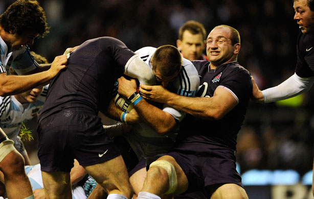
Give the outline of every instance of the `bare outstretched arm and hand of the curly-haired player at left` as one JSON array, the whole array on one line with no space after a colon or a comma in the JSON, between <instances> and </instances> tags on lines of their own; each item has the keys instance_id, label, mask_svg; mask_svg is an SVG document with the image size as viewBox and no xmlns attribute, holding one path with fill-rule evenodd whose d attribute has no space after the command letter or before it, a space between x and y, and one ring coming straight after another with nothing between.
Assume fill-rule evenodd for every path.
<instances>
[{"instance_id":1,"label":"bare outstretched arm and hand of the curly-haired player at left","mask_svg":"<svg viewBox=\"0 0 314 199\"><path fill-rule=\"evenodd\" d=\"M6 72L1 73L0 95L14 95L48 83L61 69L65 68L67 61L68 58L65 55L57 56L49 70L27 76L7 76Z\"/></svg>"}]
</instances>

